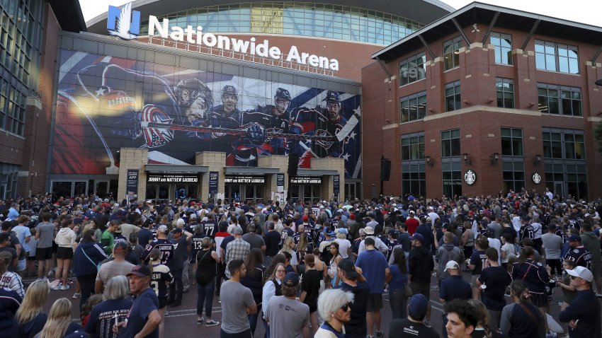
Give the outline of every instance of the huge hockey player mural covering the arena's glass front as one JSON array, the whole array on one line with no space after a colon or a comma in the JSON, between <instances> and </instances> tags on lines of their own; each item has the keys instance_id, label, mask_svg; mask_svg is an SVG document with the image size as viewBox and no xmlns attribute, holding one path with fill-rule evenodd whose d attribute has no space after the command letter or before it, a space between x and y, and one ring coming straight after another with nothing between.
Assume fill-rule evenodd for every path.
<instances>
[{"instance_id":1,"label":"huge hockey player mural covering the arena's glass front","mask_svg":"<svg viewBox=\"0 0 602 338\"><path fill-rule=\"evenodd\" d=\"M360 95L62 50L55 120L52 173L114 175L133 147L180 165L200 151L229 166L344 158L360 177Z\"/></svg>"}]
</instances>

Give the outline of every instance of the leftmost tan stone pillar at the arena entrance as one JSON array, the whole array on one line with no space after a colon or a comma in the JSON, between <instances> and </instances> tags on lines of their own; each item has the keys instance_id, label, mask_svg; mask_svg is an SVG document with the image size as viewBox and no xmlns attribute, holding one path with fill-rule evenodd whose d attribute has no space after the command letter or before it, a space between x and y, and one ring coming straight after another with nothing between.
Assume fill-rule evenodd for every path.
<instances>
[{"instance_id":1,"label":"leftmost tan stone pillar at the arena entrance","mask_svg":"<svg viewBox=\"0 0 602 338\"><path fill-rule=\"evenodd\" d=\"M119 183L117 189L118 200L125 198L127 185L127 170L137 169L138 174L138 199L142 200L147 194L147 173L144 171L148 163L149 151L141 148L121 148L119 165Z\"/></svg>"}]
</instances>

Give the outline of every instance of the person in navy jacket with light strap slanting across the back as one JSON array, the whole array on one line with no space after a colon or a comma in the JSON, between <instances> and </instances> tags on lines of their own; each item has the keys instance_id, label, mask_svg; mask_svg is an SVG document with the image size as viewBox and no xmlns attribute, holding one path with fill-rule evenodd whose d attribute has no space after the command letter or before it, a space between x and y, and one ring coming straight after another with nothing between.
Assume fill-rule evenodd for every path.
<instances>
[{"instance_id":1,"label":"person in navy jacket with light strap slanting across the back","mask_svg":"<svg viewBox=\"0 0 602 338\"><path fill-rule=\"evenodd\" d=\"M81 238L73 257L73 272L81 292L81 298L79 298L80 309L94 291L98 264L106 258L107 255L103 247L96 242L96 232L89 229Z\"/></svg>"}]
</instances>

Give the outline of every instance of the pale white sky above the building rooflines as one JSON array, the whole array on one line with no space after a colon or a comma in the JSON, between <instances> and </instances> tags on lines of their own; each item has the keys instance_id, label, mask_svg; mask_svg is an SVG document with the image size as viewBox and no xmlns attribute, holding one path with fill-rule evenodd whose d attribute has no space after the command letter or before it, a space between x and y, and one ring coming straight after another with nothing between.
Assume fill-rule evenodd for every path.
<instances>
[{"instance_id":1,"label":"pale white sky above the building rooflines","mask_svg":"<svg viewBox=\"0 0 602 338\"><path fill-rule=\"evenodd\" d=\"M84 20L89 21L106 13L108 5L121 6L129 1L79 0L79 4L84 13ZM442 2L456 9L472 3L469 0L442 0ZM602 27L602 1L600 0L571 0L569 2L560 0L480 0L479 2Z\"/></svg>"}]
</instances>

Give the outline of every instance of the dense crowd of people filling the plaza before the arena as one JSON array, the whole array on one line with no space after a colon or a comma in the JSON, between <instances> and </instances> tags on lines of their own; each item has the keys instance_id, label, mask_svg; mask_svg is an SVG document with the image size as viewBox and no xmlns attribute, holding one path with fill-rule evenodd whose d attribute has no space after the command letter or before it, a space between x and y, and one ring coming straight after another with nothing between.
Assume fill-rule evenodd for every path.
<instances>
[{"instance_id":1,"label":"dense crowd of people filling the plaza before the arena","mask_svg":"<svg viewBox=\"0 0 602 338\"><path fill-rule=\"evenodd\" d=\"M194 287L196 324L220 325L220 337L255 337L258 325L273 338L602 337L601 213L599 199L547 190L0 201L0 337L163 338L169 309ZM25 288L27 277L37 279ZM50 290L68 289L81 325L68 298L44 312ZM431 325L433 293L442 327Z\"/></svg>"}]
</instances>

